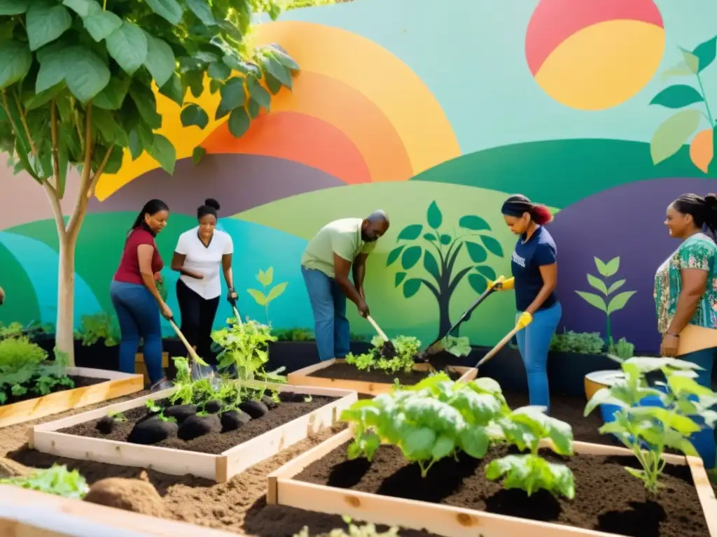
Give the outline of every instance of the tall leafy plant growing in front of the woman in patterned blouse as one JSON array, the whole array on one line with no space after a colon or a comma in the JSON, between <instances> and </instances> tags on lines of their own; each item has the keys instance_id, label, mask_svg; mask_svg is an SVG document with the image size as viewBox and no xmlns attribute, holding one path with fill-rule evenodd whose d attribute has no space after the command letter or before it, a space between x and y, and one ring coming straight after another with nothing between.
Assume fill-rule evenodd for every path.
<instances>
[{"instance_id":1,"label":"tall leafy plant growing in front of the woman in patterned blouse","mask_svg":"<svg viewBox=\"0 0 717 537\"><path fill-rule=\"evenodd\" d=\"M656 493L665 468L662 455L666 448L698 455L689 437L701 426L692 418L702 417L707 427L714 428L717 412L710 409L717 402L717 394L695 381L695 369L701 367L684 360L633 357L622 362L621 367L624 377L611 387L598 390L587 403L584 415L602 404L619 407L614 421L604 424L599 432L617 436L635 454L642 470L627 467L625 470L641 479L651 493ZM663 373L666 382L650 387L646 375L657 371ZM640 406L648 396L657 397L662 406Z\"/></svg>"}]
</instances>

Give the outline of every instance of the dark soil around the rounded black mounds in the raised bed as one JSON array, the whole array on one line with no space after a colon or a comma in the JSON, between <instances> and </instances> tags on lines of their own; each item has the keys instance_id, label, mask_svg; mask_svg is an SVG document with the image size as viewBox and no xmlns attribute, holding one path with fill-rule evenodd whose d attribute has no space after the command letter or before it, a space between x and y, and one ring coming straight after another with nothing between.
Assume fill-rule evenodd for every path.
<instances>
[{"instance_id":1,"label":"dark soil around the rounded black mounds in the raised bed","mask_svg":"<svg viewBox=\"0 0 717 537\"><path fill-rule=\"evenodd\" d=\"M160 440L156 443L152 442L152 445L156 445L161 448L173 448L176 450L196 451L199 453L219 455L219 453L223 453L230 448L234 448L234 446L237 446L242 442L251 440L254 437L279 427L280 425L284 425L291 420L295 420L296 418L308 414L319 407L323 407L323 405L328 405L328 403L333 400L333 397L317 396L313 397L310 402L305 402L303 399L299 402L282 402L280 405L277 405L274 410L267 411L268 413L265 416L256 420L251 420L246 425L243 425L236 430L220 432L221 427L212 427L213 432L209 432L209 434L196 437L192 440L181 440L181 438L176 436L176 423L162 422L158 417L150 417L146 419L146 422L158 421L162 424L158 425L156 423L151 423L151 425L148 425L148 427L151 427L153 431L155 429L158 430L160 427L171 427L174 425L174 427L171 427L174 433L170 432L169 436L166 437L165 440ZM108 435L103 435L99 430L97 430L96 425L99 420L91 420L78 425L73 425L72 427L62 429L59 432L65 432L68 435L127 442L129 440L130 432L132 432L135 428L135 425L147 417L147 409L145 407L134 408L124 412L124 416L127 420L116 423L112 432ZM189 419L190 418L187 418L187 420Z\"/></svg>"}]
</instances>

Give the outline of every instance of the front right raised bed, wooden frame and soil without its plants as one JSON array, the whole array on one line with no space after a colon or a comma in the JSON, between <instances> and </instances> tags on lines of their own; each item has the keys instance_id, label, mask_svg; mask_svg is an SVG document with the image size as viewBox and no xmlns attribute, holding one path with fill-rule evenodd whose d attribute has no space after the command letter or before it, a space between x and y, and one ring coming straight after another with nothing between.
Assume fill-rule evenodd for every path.
<instances>
[{"instance_id":1,"label":"front right raised bed, wooden frame and soil without its plants","mask_svg":"<svg viewBox=\"0 0 717 537\"><path fill-rule=\"evenodd\" d=\"M421 478L417 468L411 468L404 460L396 464L392 463L394 457L390 456L391 453L376 453L374 463L364 459L348 461L345 456L346 445L351 439L351 430L344 430L270 474L267 502L350 516L358 520L390 526L424 529L446 537L616 537L638 533L640 536L660 536L662 533L659 531L652 533L649 529L660 527L663 523L660 517L665 515L662 511L663 507L667 506L670 509L672 505L670 511L672 531L665 535L717 536L717 500L699 458L664 455L669 463L665 470L665 480L670 482L662 495L657 497L657 502L653 502L647 498L642 482L628 475L622 468L622 465L626 464L625 458L634 460L632 452L625 448L574 442L576 455L569 459L568 463L578 458L589 460L587 462L592 464L592 468L589 465L587 468L592 470L590 473L594 472L597 475L594 477L594 483L591 483L591 476L586 476L585 473L576 474L576 498L556 500L545 491L528 498L522 490L500 490L498 483L488 482L485 479L481 466L484 461L475 459L456 463L452 458L446 458L429 470L427 478ZM389 446L385 448L395 449ZM383 446L379 448L379 452L383 449ZM619 460L612 459L615 456ZM402 459L398 452L395 459ZM448 468L460 465L463 466L462 470L457 470L455 473L451 473ZM329 471L328 466L331 466L331 470L327 478L324 470ZM606 468L607 466L613 467L612 472ZM680 478L673 477L668 475L670 470L685 475ZM430 473L434 475L431 476ZM474 474L478 478L471 478ZM373 476L371 479L381 482L379 486L381 493L357 490L364 486L359 485L359 482L364 481L364 475ZM612 475L612 478L608 478L607 475ZM467 483L467 480L471 482ZM486 496L481 497L486 493L485 490L473 488L473 482L478 480L490 483L493 487ZM692 483L688 483L688 480ZM407 487L411 490L406 490ZM618 505L617 497L625 494L625 487L630 488L632 494L640 499ZM434 501L406 499L401 496L403 493L413 495L414 498L422 495L445 498L455 488L469 489L468 493L469 496L472 495L473 501L485 502L486 505L490 505L490 511L503 514L447 505L446 501L434 503ZM596 503L602 505L604 510L604 515L597 524L601 526L601 531L552 522L561 516L566 508L572 508L573 511L577 511L577 516L580 516L578 502L585 502L586 498L592 498L593 495L599 496ZM684 504L676 505L684 501L684 497L688 495L690 500L693 500L693 505L689 508L692 513L683 509ZM571 502L573 505L570 505ZM612 511L613 502L615 502L614 511ZM598 511L600 505L596 507ZM605 505L607 508L604 507ZM535 519L516 516L517 513L526 511L531 512ZM647 515L648 511L651 513L650 516ZM510 513L511 516L505 513ZM704 519L695 518L701 516L704 516ZM610 528L609 531L604 531L606 527Z\"/></svg>"}]
</instances>

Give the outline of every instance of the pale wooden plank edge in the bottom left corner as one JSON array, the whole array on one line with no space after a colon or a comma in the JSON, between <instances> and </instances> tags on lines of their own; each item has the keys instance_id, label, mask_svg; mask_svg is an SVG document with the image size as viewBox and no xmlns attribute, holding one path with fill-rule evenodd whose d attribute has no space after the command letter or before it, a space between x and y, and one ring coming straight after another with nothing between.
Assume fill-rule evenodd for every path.
<instances>
[{"instance_id":1,"label":"pale wooden plank edge in the bottom left corner","mask_svg":"<svg viewBox=\"0 0 717 537\"><path fill-rule=\"evenodd\" d=\"M39 507L42 506L42 507ZM38 516L38 508L42 515ZM4 537L236 537L235 533L0 485Z\"/></svg>"}]
</instances>

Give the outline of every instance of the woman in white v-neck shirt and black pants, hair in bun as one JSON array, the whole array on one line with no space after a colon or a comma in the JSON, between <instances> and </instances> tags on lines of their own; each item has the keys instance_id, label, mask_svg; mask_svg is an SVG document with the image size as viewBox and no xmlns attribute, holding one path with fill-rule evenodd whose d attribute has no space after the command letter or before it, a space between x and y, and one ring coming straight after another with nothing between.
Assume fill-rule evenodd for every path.
<instances>
[{"instance_id":1,"label":"woman in white v-neck shirt and black pants, hair in bun","mask_svg":"<svg viewBox=\"0 0 717 537\"><path fill-rule=\"evenodd\" d=\"M172 257L172 270L181 274L176 288L181 331L205 360L212 359L212 325L222 294L220 271L229 288L227 300L237 299L232 276L234 245L229 233L217 229L218 210L217 200L204 201L196 210L199 226L179 236Z\"/></svg>"}]
</instances>

